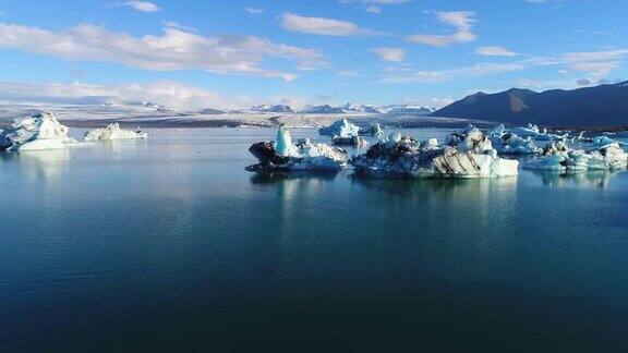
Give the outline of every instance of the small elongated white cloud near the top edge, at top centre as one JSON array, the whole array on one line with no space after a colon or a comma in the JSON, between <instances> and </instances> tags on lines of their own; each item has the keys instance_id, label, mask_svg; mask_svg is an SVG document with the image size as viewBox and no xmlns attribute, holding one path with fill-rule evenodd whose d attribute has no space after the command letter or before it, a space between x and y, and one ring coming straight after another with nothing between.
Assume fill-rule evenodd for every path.
<instances>
[{"instance_id":1,"label":"small elongated white cloud near the top edge, at top centre","mask_svg":"<svg viewBox=\"0 0 628 353\"><path fill-rule=\"evenodd\" d=\"M323 17L306 17L292 13L281 16L281 27L292 32L323 36L367 36L377 34L375 31L361 28L354 23Z\"/></svg>"}]
</instances>

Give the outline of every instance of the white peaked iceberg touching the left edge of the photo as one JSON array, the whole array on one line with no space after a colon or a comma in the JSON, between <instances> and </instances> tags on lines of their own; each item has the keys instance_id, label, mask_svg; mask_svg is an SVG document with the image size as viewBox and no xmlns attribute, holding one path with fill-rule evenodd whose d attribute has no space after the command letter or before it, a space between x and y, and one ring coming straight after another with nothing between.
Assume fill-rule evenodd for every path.
<instances>
[{"instance_id":1,"label":"white peaked iceberg touching the left edge of the photo","mask_svg":"<svg viewBox=\"0 0 628 353\"><path fill-rule=\"evenodd\" d=\"M43 150L64 148L75 141L68 136L68 126L51 112L16 119L0 131L0 150Z\"/></svg>"}]
</instances>

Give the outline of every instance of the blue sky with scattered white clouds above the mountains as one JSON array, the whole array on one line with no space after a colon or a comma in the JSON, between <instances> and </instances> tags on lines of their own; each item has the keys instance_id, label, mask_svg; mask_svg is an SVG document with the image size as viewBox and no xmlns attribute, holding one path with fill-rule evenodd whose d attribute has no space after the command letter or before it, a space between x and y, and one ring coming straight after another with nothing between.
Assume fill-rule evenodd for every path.
<instances>
[{"instance_id":1,"label":"blue sky with scattered white clouds above the mountains","mask_svg":"<svg viewBox=\"0 0 628 353\"><path fill-rule=\"evenodd\" d=\"M626 0L0 0L0 100L442 107L628 80Z\"/></svg>"}]
</instances>

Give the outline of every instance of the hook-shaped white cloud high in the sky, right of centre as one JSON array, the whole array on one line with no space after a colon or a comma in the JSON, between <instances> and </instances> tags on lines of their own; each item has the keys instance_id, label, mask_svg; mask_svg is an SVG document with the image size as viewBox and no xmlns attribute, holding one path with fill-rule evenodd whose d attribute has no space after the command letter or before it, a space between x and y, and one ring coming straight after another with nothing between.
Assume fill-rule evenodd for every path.
<instances>
[{"instance_id":1,"label":"hook-shaped white cloud high in the sky, right of centre","mask_svg":"<svg viewBox=\"0 0 628 353\"><path fill-rule=\"evenodd\" d=\"M415 34L407 36L406 39L416 44L446 47L457 42L473 41L478 38L478 36L472 32L473 23L476 21L474 12L436 12L436 19L442 23L456 27L456 32L450 35Z\"/></svg>"}]
</instances>

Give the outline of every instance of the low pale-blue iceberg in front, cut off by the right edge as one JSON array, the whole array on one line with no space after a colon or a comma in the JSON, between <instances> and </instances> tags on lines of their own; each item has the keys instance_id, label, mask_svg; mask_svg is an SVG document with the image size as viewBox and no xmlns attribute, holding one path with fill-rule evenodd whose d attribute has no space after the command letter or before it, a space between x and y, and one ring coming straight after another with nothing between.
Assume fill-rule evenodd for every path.
<instances>
[{"instance_id":1,"label":"low pale-blue iceberg in front, cut off by the right edge","mask_svg":"<svg viewBox=\"0 0 628 353\"><path fill-rule=\"evenodd\" d=\"M527 169L551 171L620 170L628 165L628 154L617 143L590 150L570 149L565 141L548 144L543 156L524 165Z\"/></svg>"}]
</instances>

